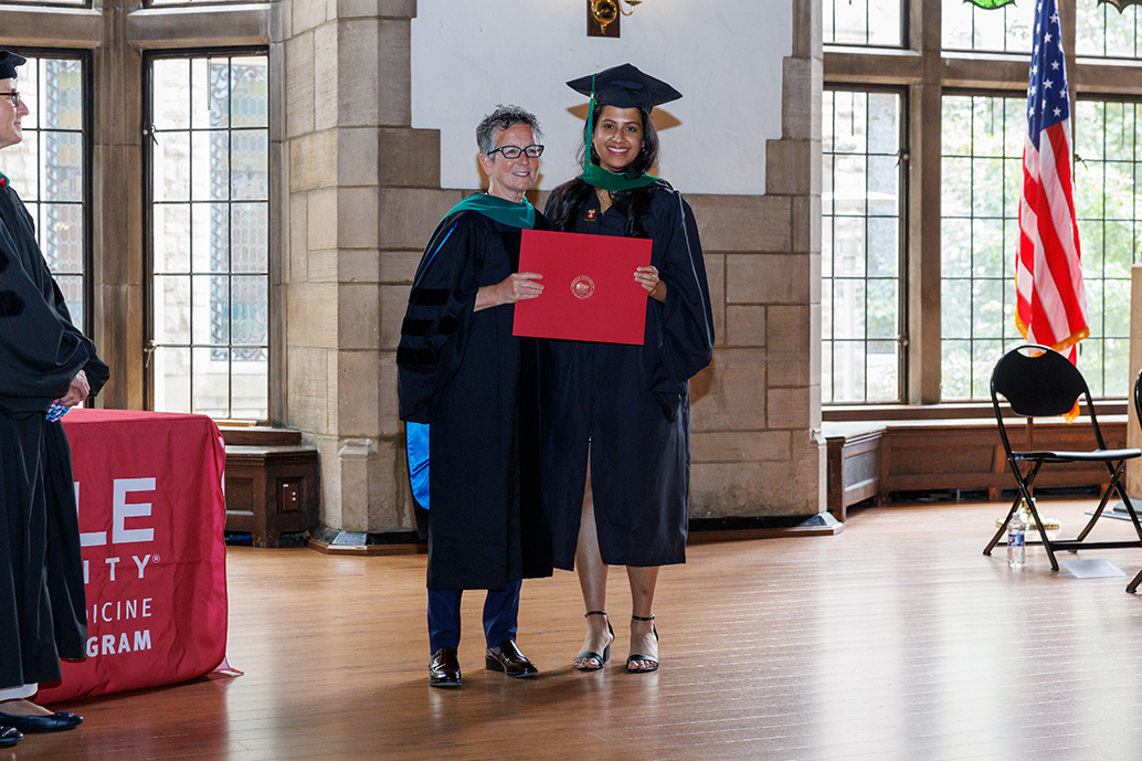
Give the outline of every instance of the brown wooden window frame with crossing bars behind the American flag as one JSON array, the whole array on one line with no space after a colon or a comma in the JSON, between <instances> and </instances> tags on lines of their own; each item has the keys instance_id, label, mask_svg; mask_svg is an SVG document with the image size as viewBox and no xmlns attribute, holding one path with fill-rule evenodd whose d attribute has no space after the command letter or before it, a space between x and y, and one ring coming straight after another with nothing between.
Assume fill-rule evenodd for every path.
<instances>
[{"instance_id":1,"label":"brown wooden window frame with crossing bars behind the American flag","mask_svg":"<svg viewBox=\"0 0 1142 761\"><path fill-rule=\"evenodd\" d=\"M960 0L943 0L959 2ZM1142 61L1124 62L1075 55L1076 2L1057 0L1067 50L1071 97L1142 96ZM826 420L986 417L988 402L944 403L940 398L941 369L941 109L946 90L996 93L1027 90L1026 55L944 51L941 0L906 3L904 39L908 47L874 48L825 46L826 86L907 88L908 178L904 237L907 304L907 374L904 403L826 404ZM928 210L928 214L924 214ZM1100 412L1124 414L1126 401L1100 401Z\"/></svg>"}]
</instances>

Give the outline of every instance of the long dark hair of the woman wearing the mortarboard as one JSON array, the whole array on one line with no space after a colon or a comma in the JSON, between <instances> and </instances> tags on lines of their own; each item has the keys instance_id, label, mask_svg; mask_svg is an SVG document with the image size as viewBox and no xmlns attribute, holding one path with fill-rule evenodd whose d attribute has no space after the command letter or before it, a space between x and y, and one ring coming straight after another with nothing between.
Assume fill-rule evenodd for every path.
<instances>
[{"instance_id":1,"label":"long dark hair of the woman wearing the mortarboard","mask_svg":"<svg viewBox=\"0 0 1142 761\"><path fill-rule=\"evenodd\" d=\"M650 112L643 109L640 109L638 112L642 114L643 122L642 146L638 149L638 155L635 157L635 160L630 162L630 166L624 174L641 175L658 162L658 130L654 129L654 122L650 118ZM598 118L602 113L602 106L595 109L595 115L590 122L590 131L584 133L582 143L579 145L578 152L580 165L587 151L590 151L590 162L598 163L598 153L595 152L595 146L590 144L587 136L589 134L594 137L595 127L598 125ZM611 202L626 219L624 235L627 238L650 238L643 229L642 217L646 214L646 209L650 208L653 187L651 185L649 187L637 187L611 194ZM552 227L558 232L573 232L576 216L594 191L593 186L582 182L579 177L565 182L552 191L552 197L547 201L547 217L552 223Z\"/></svg>"}]
</instances>

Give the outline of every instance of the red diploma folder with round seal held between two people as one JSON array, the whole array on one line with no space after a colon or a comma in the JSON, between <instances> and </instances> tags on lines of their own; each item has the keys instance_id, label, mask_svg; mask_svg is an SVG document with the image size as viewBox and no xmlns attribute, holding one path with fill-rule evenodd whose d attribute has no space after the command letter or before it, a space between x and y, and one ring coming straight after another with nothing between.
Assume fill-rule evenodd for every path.
<instances>
[{"instance_id":1,"label":"red diploma folder with round seal held between two people","mask_svg":"<svg viewBox=\"0 0 1142 761\"><path fill-rule=\"evenodd\" d=\"M516 302L513 334L641 345L648 296L635 269L650 250L642 238L524 230L520 272L544 275L544 293Z\"/></svg>"}]
</instances>

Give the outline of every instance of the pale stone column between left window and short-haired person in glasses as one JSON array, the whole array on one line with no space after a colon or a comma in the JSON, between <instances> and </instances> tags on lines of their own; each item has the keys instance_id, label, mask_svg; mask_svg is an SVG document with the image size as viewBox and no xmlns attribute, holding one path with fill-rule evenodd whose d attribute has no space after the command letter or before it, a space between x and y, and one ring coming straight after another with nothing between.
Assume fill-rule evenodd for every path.
<instances>
[{"instance_id":1,"label":"pale stone column between left window and short-haired person in glasses","mask_svg":"<svg viewBox=\"0 0 1142 761\"><path fill-rule=\"evenodd\" d=\"M434 223L419 215L405 240L401 208L416 207L424 191L413 189L439 189L439 136L411 128L415 0L295 0L289 10L286 423L321 452L321 522L363 538L412 528L393 358L413 251Z\"/></svg>"}]
</instances>

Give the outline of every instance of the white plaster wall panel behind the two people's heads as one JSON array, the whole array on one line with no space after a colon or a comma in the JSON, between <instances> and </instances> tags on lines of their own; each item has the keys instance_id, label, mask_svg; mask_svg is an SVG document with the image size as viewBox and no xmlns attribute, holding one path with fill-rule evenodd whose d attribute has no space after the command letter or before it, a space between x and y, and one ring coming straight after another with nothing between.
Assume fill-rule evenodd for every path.
<instances>
[{"instance_id":1,"label":"white plaster wall panel behind the two people's heads","mask_svg":"<svg viewBox=\"0 0 1142 761\"><path fill-rule=\"evenodd\" d=\"M564 82L629 62L670 82L658 174L685 193L764 194L765 141L781 137L790 0L645 0L621 39L587 37L585 0L419 0L412 126L441 130L441 184L478 187L475 127L498 103L539 117L538 186L578 174L586 98ZM659 117L667 117L660 119Z\"/></svg>"}]
</instances>

